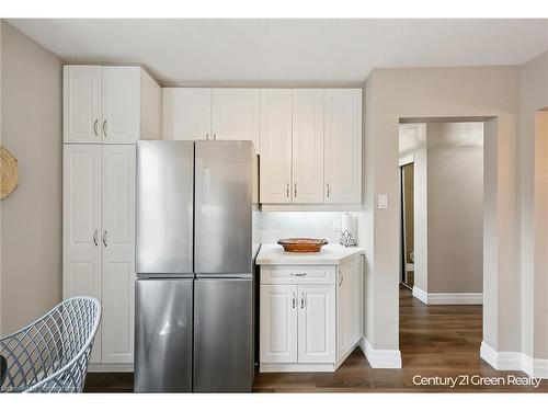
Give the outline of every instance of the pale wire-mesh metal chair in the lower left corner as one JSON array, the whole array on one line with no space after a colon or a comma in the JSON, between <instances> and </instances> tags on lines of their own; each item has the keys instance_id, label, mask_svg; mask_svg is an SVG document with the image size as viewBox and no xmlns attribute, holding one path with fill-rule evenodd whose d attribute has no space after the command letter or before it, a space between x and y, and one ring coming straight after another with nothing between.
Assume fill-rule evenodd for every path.
<instances>
[{"instance_id":1,"label":"pale wire-mesh metal chair in the lower left corner","mask_svg":"<svg viewBox=\"0 0 548 411\"><path fill-rule=\"evenodd\" d=\"M98 299L75 297L2 338L8 370L0 392L81 392L100 320Z\"/></svg>"}]
</instances>

